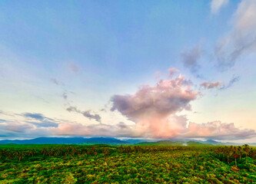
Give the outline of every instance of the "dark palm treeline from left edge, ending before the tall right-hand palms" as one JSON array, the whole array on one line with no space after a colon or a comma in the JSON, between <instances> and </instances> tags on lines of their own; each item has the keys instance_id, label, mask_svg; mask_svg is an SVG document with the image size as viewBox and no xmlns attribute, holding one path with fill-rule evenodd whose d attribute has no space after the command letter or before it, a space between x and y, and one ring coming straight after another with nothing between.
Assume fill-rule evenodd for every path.
<instances>
[{"instance_id":1,"label":"dark palm treeline from left edge, ending before the tall right-hand palms","mask_svg":"<svg viewBox=\"0 0 256 184\"><path fill-rule=\"evenodd\" d=\"M115 153L159 153L175 150L199 150L199 146L39 146L39 147L21 147L21 148L0 148L0 159L13 160L20 162L22 159L28 159L38 156L97 156L104 154L108 156ZM205 146L204 151L211 150L211 147Z\"/></svg>"}]
</instances>

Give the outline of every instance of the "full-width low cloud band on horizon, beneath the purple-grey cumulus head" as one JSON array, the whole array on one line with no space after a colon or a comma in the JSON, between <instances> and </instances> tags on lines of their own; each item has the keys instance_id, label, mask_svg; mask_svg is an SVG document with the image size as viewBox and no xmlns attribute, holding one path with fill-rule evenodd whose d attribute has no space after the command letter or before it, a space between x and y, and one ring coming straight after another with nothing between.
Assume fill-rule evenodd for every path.
<instances>
[{"instance_id":1,"label":"full-width low cloud band on horizon, beneath the purple-grey cumulus head","mask_svg":"<svg viewBox=\"0 0 256 184\"><path fill-rule=\"evenodd\" d=\"M151 138L198 137L214 140L241 140L255 136L254 130L239 129L234 123L213 121L208 123L188 123L185 115L171 114L164 117L142 117L135 125L120 122L115 124L81 124L58 120L56 126L37 126L32 122L5 120L0 123L0 134L5 137L38 136L125 136ZM57 121L57 120L55 120Z\"/></svg>"}]
</instances>

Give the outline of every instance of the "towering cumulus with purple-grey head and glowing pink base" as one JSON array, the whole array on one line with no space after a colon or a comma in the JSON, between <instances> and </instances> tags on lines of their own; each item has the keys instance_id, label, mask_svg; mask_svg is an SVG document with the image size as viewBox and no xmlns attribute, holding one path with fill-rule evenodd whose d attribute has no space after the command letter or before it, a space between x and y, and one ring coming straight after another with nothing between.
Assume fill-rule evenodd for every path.
<instances>
[{"instance_id":1,"label":"towering cumulus with purple-grey head and glowing pink base","mask_svg":"<svg viewBox=\"0 0 256 184\"><path fill-rule=\"evenodd\" d=\"M190 102L198 94L191 89L191 83L185 76L180 75L168 81L158 81L155 87L141 86L133 95L115 95L111 110L118 110L135 121L138 135L174 137L185 130L186 125L185 117L178 117L176 113L190 110Z\"/></svg>"}]
</instances>

